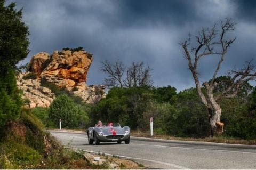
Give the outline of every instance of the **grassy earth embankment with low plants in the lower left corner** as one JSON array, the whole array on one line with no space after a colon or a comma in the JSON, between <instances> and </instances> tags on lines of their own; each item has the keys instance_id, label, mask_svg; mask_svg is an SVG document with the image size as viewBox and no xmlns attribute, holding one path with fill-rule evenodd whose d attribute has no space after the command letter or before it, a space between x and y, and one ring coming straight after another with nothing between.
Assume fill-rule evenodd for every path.
<instances>
[{"instance_id":1,"label":"grassy earth embankment with low plants in the lower left corner","mask_svg":"<svg viewBox=\"0 0 256 170\"><path fill-rule=\"evenodd\" d=\"M91 169L83 155L65 149L28 109L1 134L0 169Z\"/></svg>"}]
</instances>

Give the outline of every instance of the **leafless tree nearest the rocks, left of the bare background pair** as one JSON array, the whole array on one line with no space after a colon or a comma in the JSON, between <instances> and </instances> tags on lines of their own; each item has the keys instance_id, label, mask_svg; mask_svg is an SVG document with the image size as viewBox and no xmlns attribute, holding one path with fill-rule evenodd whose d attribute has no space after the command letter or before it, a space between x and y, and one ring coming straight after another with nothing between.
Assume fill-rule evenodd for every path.
<instances>
[{"instance_id":1,"label":"leafless tree nearest the rocks, left of the bare background pair","mask_svg":"<svg viewBox=\"0 0 256 170\"><path fill-rule=\"evenodd\" d=\"M101 71L107 74L107 77L104 79L105 86L110 87L123 87L123 74L126 69L122 61L116 61L114 64L111 64L109 61L103 61Z\"/></svg>"}]
</instances>

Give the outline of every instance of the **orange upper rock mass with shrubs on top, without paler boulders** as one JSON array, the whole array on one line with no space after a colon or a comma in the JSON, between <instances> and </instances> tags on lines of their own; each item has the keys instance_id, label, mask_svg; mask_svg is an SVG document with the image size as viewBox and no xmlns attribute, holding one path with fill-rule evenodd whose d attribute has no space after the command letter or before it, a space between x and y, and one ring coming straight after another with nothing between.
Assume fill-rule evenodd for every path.
<instances>
[{"instance_id":1,"label":"orange upper rock mass with shrubs on top, without paler boulders","mask_svg":"<svg viewBox=\"0 0 256 170\"><path fill-rule=\"evenodd\" d=\"M43 63L39 62L43 60ZM83 50L54 51L48 58L47 53L36 54L30 61L30 67L37 77L45 77L60 88L68 88L86 82L92 61L92 54Z\"/></svg>"}]
</instances>

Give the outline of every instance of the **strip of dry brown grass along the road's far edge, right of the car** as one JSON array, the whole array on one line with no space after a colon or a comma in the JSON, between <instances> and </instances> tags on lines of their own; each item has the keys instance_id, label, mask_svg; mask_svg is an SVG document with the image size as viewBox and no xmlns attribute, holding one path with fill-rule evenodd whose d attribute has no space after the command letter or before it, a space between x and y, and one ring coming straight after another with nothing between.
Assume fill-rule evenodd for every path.
<instances>
[{"instance_id":1,"label":"strip of dry brown grass along the road's far edge, right of the car","mask_svg":"<svg viewBox=\"0 0 256 170\"><path fill-rule=\"evenodd\" d=\"M131 131L131 136L149 137L153 139L180 140L180 141L201 141L201 142L230 143L230 144L256 144L256 140L243 140L243 139L236 139L234 137L226 137L226 136L205 137L205 138L175 137L175 136L163 135L163 134L154 134L154 136L150 136L150 132L141 132L141 131Z\"/></svg>"}]
</instances>

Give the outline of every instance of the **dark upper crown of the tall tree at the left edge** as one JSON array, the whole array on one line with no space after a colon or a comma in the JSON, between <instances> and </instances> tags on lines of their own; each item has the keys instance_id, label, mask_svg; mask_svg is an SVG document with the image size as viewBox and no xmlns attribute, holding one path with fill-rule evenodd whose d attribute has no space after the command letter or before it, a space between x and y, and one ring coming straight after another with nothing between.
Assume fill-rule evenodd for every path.
<instances>
[{"instance_id":1,"label":"dark upper crown of the tall tree at the left edge","mask_svg":"<svg viewBox=\"0 0 256 170\"><path fill-rule=\"evenodd\" d=\"M22 21L22 10L15 10L15 3L4 6L0 2L0 75L5 76L8 69L25 59L28 50L28 26Z\"/></svg>"}]
</instances>

